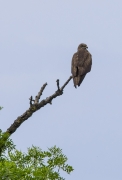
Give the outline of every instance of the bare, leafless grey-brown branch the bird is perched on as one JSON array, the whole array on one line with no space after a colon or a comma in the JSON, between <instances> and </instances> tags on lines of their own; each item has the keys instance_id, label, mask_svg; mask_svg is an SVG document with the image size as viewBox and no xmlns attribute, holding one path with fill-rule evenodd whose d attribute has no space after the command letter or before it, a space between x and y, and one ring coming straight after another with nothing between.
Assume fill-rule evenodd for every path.
<instances>
[{"instance_id":1,"label":"bare, leafless grey-brown branch the bird is perched on","mask_svg":"<svg viewBox=\"0 0 122 180\"><path fill-rule=\"evenodd\" d=\"M30 100L30 108L25 111L21 116L19 116L14 123L7 129L7 133L10 135L13 134L17 128L29 117L32 116L34 112L37 110L41 109L42 107L46 106L47 104L52 104L52 100L58 96L61 96L63 94L63 90L65 86L69 83L69 81L72 79L72 76L69 77L69 79L64 83L64 85L60 88L59 87L59 79L56 81L57 82L57 88L58 90L52 94L51 96L47 97L46 99L43 99L41 102L39 102L40 96L42 95L45 87L47 86L47 83L45 83L42 88L40 89L38 95L35 97L35 100L33 100L33 97L31 96L29 98Z\"/></svg>"}]
</instances>

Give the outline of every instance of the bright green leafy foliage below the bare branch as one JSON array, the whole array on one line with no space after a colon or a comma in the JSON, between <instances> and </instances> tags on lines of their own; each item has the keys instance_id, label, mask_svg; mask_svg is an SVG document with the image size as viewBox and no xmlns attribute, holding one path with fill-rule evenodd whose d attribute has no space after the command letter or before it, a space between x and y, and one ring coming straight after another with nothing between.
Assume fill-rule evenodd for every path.
<instances>
[{"instance_id":1,"label":"bright green leafy foliage below the bare branch","mask_svg":"<svg viewBox=\"0 0 122 180\"><path fill-rule=\"evenodd\" d=\"M1 133L1 136L6 136ZM60 171L73 171L67 157L56 146L42 151L39 147L28 148L27 153L18 151L8 139L0 157L1 180L64 180ZM1 141L2 142L2 141Z\"/></svg>"}]
</instances>

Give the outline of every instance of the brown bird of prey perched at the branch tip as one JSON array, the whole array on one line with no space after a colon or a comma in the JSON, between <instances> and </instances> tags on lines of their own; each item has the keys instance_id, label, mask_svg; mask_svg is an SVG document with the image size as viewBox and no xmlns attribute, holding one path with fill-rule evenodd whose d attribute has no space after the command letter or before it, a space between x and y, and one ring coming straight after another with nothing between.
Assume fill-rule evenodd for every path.
<instances>
[{"instance_id":1,"label":"brown bird of prey perched at the branch tip","mask_svg":"<svg viewBox=\"0 0 122 180\"><path fill-rule=\"evenodd\" d=\"M91 71L92 56L87 48L86 44L80 44L72 57L71 72L75 88L80 86L86 74Z\"/></svg>"}]
</instances>

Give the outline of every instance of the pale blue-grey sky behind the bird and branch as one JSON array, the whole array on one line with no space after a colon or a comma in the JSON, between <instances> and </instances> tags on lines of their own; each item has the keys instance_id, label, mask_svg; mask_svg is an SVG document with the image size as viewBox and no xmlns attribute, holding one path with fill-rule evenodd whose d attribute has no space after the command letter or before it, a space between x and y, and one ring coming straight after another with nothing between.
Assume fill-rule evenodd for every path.
<instances>
[{"instance_id":1,"label":"pale blue-grey sky behind the bird and branch","mask_svg":"<svg viewBox=\"0 0 122 180\"><path fill-rule=\"evenodd\" d=\"M80 43L92 54L92 71L75 89L24 122L11 136L26 152L57 145L75 169L66 180L122 179L121 0L0 0L0 128L29 108L29 97L47 82L41 99L71 75Z\"/></svg>"}]
</instances>

